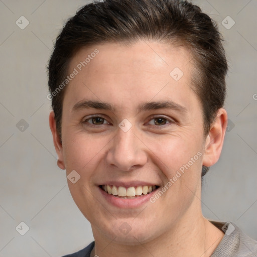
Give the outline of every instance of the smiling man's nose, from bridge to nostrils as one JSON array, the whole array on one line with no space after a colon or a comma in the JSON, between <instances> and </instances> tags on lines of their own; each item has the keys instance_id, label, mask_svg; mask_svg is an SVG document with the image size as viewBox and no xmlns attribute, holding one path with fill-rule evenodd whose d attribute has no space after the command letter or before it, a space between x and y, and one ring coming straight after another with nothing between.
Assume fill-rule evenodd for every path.
<instances>
[{"instance_id":1,"label":"smiling man's nose, from bridge to nostrils","mask_svg":"<svg viewBox=\"0 0 257 257\"><path fill-rule=\"evenodd\" d=\"M134 127L127 132L117 129L107 153L107 163L122 171L131 171L147 163L147 147L135 132Z\"/></svg>"}]
</instances>

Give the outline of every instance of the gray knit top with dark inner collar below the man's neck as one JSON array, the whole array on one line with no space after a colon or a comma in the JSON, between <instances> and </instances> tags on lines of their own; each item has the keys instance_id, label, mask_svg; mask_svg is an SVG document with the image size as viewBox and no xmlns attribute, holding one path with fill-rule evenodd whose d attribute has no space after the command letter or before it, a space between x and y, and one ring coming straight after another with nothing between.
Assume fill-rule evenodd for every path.
<instances>
[{"instance_id":1,"label":"gray knit top with dark inner collar below the man's neck","mask_svg":"<svg viewBox=\"0 0 257 257\"><path fill-rule=\"evenodd\" d=\"M209 220L225 234L210 257L257 257L257 241L244 234L232 222ZM94 241L84 249L63 257L90 257Z\"/></svg>"}]
</instances>

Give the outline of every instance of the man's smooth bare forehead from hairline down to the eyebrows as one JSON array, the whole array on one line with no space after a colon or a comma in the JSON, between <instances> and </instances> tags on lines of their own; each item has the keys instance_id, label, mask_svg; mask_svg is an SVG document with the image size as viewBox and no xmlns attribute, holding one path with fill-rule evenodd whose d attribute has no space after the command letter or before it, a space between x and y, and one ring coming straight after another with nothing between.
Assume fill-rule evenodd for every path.
<instances>
[{"instance_id":1,"label":"man's smooth bare forehead from hairline down to the eyebrows","mask_svg":"<svg viewBox=\"0 0 257 257\"><path fill-rule=\"evenodd\" d=\"M163 97L176 98L179 103L187 94L190 104L196 98L191 90L191 60L184 47L143 40L84 47L69 64L68 74L74 70L77 74L69 82L65 98L73 103L83 98L108 99L124 108L132 100L138 106L143 100Z\"/></svg>"}]
</instances>

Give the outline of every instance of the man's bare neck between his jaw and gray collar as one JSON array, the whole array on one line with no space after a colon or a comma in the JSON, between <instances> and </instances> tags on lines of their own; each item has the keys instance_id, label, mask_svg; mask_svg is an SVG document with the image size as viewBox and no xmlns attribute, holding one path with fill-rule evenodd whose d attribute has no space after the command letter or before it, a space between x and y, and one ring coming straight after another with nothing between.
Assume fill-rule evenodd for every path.
<instances>
[{"instance_id":1,"label":"man's bare neck between his jaw and gray collar","mask_svg":"<svg viewBox=\"0 0 257 257\"><path fill-rule=\"evenodd\" d=\"M116 243L115 239L107 239L99 234L99 231L95 233L93 229L95 248L91 256L209 257L220 243L224 233L202 215L195 217L185 215L161 236L146 243L137 242L135 245Z\"/></svg>"}]
</instances>

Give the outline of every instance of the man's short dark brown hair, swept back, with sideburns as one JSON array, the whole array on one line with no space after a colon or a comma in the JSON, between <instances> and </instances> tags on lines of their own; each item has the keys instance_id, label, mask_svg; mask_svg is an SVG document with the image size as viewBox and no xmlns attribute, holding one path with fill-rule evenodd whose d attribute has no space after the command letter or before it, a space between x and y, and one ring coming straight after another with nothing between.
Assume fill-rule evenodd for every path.
<instances>
[{"instance_id":1,"label":"man's short dark brown hair, swept back, with sideburns","mask_svg":"<svg viewBox=\"0 0 257 257\"><path fill-rule=\"evenodd\" d=\"M227 61L216 23L187 1L105 0L81 8L57 37L48 66L51 95L65 80L70 60L81 47L141 39L179 44L190 51L195 65L192 89L202 104L207 136L224 104ZM65 89L51 97L60 138Z\"/></svg>"}]
</instances>

